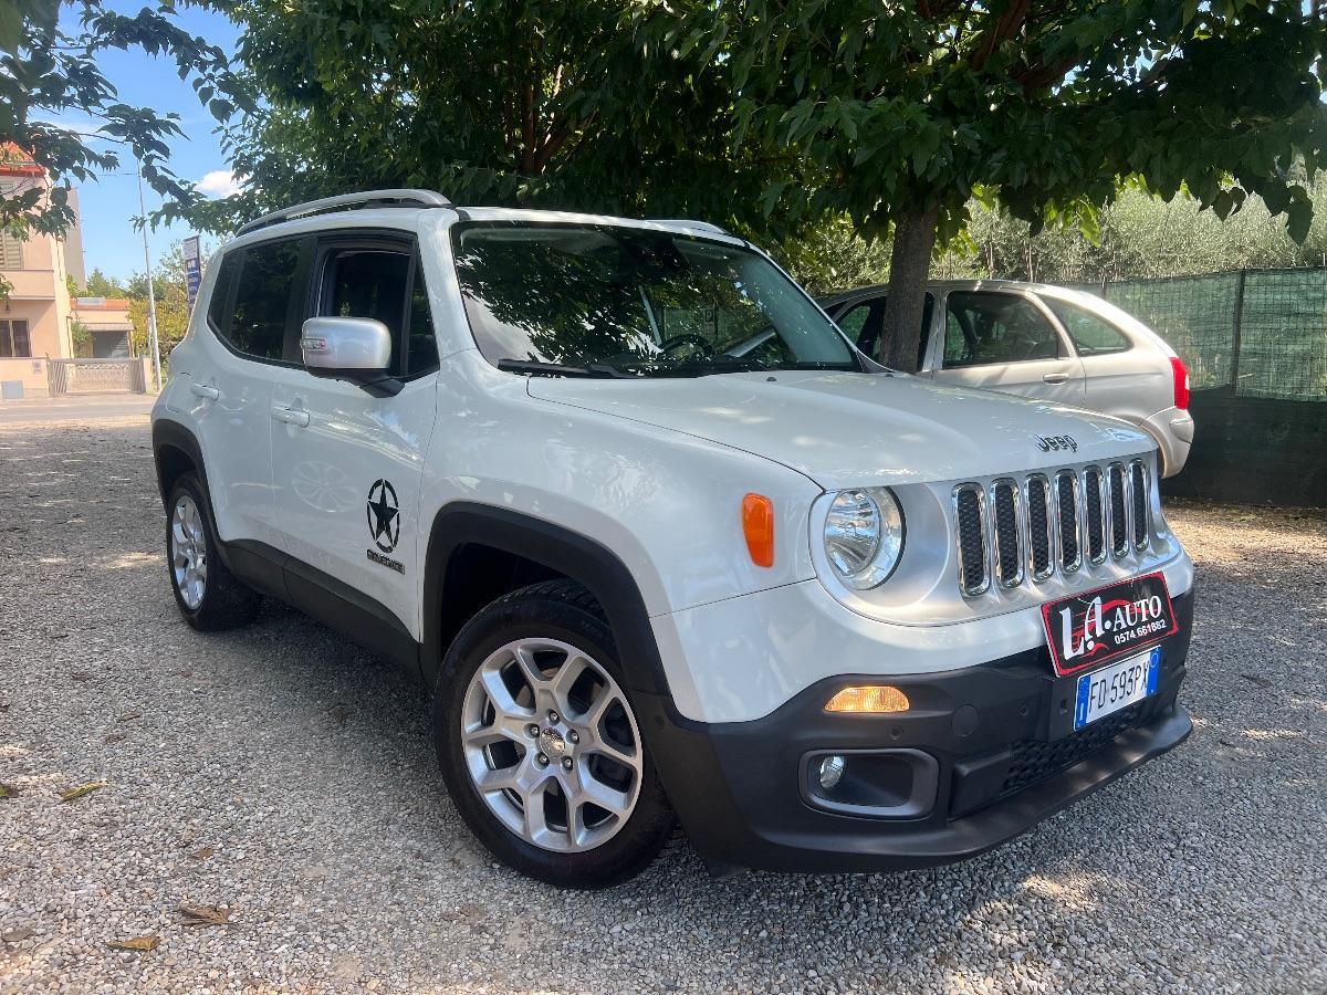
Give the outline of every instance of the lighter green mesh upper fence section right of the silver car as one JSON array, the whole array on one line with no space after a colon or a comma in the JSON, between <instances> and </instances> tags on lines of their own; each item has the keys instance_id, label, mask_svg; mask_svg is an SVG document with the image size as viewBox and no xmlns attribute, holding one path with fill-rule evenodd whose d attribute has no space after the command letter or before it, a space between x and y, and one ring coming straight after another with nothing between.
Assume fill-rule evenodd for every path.
<instances>
[{"instance_id":1,"label":"lighter green mesh upper fence section right of the silver car","mask_svg":"<svg viewBox=\"0 0 1327 995\"><path fill-rule=\"evenodd\" d=\"M1245 269L1085 287L1153 328L1194 390L1327 401L1327 268Z\"/></svg>"}]
</instances>

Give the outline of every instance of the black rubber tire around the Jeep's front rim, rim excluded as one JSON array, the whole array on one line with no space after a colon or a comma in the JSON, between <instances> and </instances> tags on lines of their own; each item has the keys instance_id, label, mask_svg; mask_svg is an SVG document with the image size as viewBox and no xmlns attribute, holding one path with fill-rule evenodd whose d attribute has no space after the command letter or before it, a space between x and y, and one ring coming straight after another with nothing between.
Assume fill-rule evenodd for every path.
<instances>
[{"instance_id":1,"label":"black rubber tire around the Jeep's front rim, rim excluded","mask_svg":"<svg viewBox=\"0 0 1327 995\"><path fill-rule=\"evenodd\" d=\"M630 703L630 693L602 609L573 581L545 581L494 601L453 641L433 695L433 734L447 791L460 817L503 864L559 888L600 889L644 870L675 824L648 746L640 744L642 773L636 807L605 842L583 852L548 850L508 829L475 787L462 748L462 708L475 671L502 646L520 638L569 643L601 663ZM633 706L634 711L634 706Z\"/></svg>"}]
</instances>

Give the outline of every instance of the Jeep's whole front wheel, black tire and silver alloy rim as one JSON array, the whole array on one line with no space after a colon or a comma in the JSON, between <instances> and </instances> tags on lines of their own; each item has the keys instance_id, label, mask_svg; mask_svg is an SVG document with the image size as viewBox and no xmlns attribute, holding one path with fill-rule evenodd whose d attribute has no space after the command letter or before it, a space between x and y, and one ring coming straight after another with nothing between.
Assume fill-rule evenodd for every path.
<instances>
[{"instance_id":1,"label":"Jeep's whole front wheel, black tire and silver alloy rim","mask_svg":"<svg viewBox=\"0 0 1327 995\"><path fill-rule=\"evenodd\" d=\"M536 584L475 616L443 662L433 722L460 816L531 877L605 888L671 832L612 633L577 584Z\"/></svg>"}]
</instances>

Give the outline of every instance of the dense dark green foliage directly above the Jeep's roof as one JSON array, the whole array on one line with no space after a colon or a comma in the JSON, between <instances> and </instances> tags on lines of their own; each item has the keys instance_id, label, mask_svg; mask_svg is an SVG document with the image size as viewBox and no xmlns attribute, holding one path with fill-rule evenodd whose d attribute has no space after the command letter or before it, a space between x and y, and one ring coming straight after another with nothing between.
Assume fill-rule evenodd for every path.
<instances>
[{"instance_id":1,"label":"dense dark green foliage directly above the Jeep's roof","mask_svg":"<svg viewBox=\"0 0 1327 995\"><path fill-rule=\"evenodd\" d=\"M244 190L166 216L226 231L311 198L431 187L456 203L740 215L767 227L764 171L734 168L723 81L642 49L624 29L633 9L239 0L244 84L261 100L223 141Z\"/></svg>"}]
</instances>

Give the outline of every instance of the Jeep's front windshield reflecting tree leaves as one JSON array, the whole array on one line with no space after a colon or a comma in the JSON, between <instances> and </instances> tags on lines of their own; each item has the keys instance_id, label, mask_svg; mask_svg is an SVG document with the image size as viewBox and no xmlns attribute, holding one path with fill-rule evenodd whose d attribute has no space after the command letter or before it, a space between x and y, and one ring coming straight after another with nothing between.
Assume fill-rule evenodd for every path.
<instances>
[{"instance_id":1,"label":"Jeep's front windshield reflecting tree leaves","mask_svg":"<svg viewBox=\"0 0 1327 995\"><path fill-rule=\"evenodd\" d=\"M861 369L807 296L740 245L519 222L463 224L453 237L470 326L499 366L662 377Z\"/></svg>"}]
</instances>

